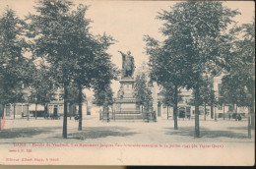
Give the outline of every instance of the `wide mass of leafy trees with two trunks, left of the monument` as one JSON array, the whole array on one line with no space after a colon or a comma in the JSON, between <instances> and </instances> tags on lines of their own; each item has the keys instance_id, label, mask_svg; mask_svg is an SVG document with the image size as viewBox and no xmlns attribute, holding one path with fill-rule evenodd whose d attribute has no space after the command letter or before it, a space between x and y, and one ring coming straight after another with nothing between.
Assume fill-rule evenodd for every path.
<instances>
[{"instance_id":1,"label":"wide mass of leafy trees with two trunks, left of the monument","mask_svg":"<svg viewBox=\"0 0 256 169\"><path fill-rule=\"evenodd\" d=\"M67 138L68 102L79 104L82 130L83 88L104 91L115 78L116 69L106 50L114 40L90 32L88 6L72 1L39 0L23 21L7 9L0 21L1 86L0 103L24 99L22 85L32 90L35 103L46 103L52 86L64 89L63 138ZM75 89L75 91L72 91ZM72 94L69 92L77 92ZM72 96L73 95L73 96ZM76 97L76 98L74 98ZM3 111L1 111L3 116Z\"/></svg>"}]
</instances>

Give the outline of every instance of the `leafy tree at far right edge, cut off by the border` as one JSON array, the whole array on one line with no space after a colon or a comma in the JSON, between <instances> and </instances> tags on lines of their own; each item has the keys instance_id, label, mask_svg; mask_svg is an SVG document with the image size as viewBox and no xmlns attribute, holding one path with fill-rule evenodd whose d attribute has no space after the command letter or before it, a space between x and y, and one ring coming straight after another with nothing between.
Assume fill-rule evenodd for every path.
<instances>
[{"instance_id":1,"label":"leafy tree at far right edge, cut off by the border","mask_svg":"<svg viewBox=\"0 0 256 169\"><path fill-rule=\"evenodd\" d=\"M226 58L222 102L248 107L251 126L255 127L255 21L233 28L231 34L234 36L232 55Z\"/></svg>"}]
</instances>

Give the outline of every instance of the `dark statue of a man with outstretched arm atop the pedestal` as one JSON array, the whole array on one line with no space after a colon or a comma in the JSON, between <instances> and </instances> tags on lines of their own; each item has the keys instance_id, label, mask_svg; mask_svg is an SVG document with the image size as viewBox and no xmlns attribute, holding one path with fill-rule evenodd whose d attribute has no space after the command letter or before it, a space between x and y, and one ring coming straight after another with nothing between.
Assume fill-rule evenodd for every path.
<instances>
[{"instance_id":1,"label":"dark statue of a man with outstretched arm atop the pedestal","mask_svg":"<svg viewBox=\"0 0 256 169\"><path fill-rule=\"evenodd\" d=\"M131 56L131 52L128 51L127 55L121 51L118 51L122 55L122 78L132 78L134 73L134 58Z\"/></svg>"}]
</instances>

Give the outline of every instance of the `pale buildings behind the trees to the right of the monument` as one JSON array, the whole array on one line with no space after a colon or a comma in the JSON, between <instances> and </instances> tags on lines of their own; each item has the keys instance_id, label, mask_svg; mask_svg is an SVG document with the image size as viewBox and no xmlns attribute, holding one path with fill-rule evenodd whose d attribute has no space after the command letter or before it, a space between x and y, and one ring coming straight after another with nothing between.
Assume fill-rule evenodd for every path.
<instances>
[{"instance_id":1,"label":"pale buildings behind the trees to the right of the monument","mask_svg":"<svg viewBox=\"0 0 256 169\"><path fill-rule=\"evenodd\" d=\"M140 68L138 68L137 74L145 73L149 77L148 66L146 63L143 63ZM212 78L212 83L214 87L214 91L216 94L216 98L219 99L222 97L221 87L222 87L222 78L223 74L219 74L216 77ZM173 117L173 107L167 107L161 102L162 96L160 95L160 87L157 83L150 84L149 87L153 93L153 107L154 111L156 111L158 117L163 118L172 118ZM187 90L186 88L180 88L180 96L181 100L178 102L178 117L179 118L194 118L195 117L195 106L190 105L190 102L193 98L192 90ZM233 114L235 112L246 116L248 114L247 107L238 107L235 104L226 104L226 105L215 105L211 107L210 105L205 107L202 105L199 107L200 115L211 117L211 109L212 109L212 118L213 116L217 116L217 118L233 118Z\"/></svg>"}]
</instances>

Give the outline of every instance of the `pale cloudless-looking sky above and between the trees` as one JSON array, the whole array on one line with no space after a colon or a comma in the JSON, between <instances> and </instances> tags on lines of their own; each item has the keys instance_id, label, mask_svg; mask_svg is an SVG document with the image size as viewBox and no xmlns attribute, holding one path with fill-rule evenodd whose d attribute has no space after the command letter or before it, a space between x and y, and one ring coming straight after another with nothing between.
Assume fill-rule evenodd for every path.
<instances>
[{"instance_id":1,"label":"pale cloudless-looking sky above and between the trees","mask_svg":"<svg viewBox=\"0 0 256 169\"><path fill-rule=\"evenodd\" d=\"M117 42L109 49L112 62L121 69L121 55L131 51L135 59L136 67L148 60L144 54L145 42L143 36L149 34L161 39L159 28L161 22L156 20L160 9L167 10L175 1L85 1L75 0L75 4L83 3L91 5L86 18L91 19L91 31L94 34L106 32L113 36ZM0 0L0 13L8 5L17 12L20 18L24 18L29 12L34 13L32 0ZM254 16L253 1L228 1L224 5L231 9L238 9L241 15L235 18L239 24L251 23ZM117 85L116 85L117 84ZM119 89L119 84L114 83L113 90Z\"/></svg>"}]
</instances>

